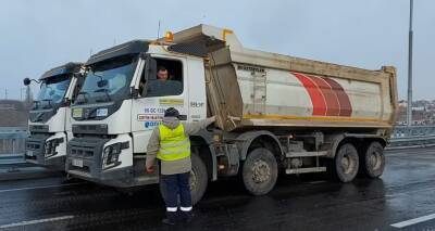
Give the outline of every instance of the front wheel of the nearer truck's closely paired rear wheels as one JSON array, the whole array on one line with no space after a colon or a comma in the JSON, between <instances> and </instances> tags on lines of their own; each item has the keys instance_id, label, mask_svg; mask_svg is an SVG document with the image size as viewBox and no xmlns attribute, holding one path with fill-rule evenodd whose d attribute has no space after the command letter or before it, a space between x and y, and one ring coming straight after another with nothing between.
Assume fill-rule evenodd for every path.
<instances>
[{"instance_id":1,"label":"front wheel of the nearer truck's closely paired rear wheels","mask_svg":"<svg viewBox=\"0 0 435 231\"><path fill-rule=\"evenodd\" d=\"M352 181L358 174L358 151L351 143L343 144L334 159L335 175L341 182Z\"/></svg>"}]
</instances>

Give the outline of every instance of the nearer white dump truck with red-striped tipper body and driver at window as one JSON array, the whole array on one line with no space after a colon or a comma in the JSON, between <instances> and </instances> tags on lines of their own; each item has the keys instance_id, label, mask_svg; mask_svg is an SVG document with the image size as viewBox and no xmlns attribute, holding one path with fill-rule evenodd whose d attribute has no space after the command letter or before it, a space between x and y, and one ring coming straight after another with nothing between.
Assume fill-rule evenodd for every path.
<instances>
[{"instance_id":1,"label":"nearer white dump truck with red-striped tipper body and driver at window","mask_svg":"<svg viewBox=\"0 0 435 231\"><path fill-rule=\"evenodd\" d=\"M71 106L73 177L116 188L158 183L159 171L145 171L146 147L170 106L186 121L217 117L190 137L194 203L209 181L228 176L241 175L261 195L278 172L331 170L343 182L383 174L397 110L394 67L250 50L232 30L208 25L103 50L85 66ZM169 80L157 79L159 66Z\"/></svg>"}]
</instances>

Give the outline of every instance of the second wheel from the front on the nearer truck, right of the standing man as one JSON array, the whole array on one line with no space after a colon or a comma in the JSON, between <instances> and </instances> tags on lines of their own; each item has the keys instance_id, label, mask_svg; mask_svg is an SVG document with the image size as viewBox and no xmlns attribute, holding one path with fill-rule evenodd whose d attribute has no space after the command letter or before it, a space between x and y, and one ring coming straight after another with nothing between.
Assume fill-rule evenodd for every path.
<instances>
[{"instance_id":1,"label":"second wheel from the front on the nearer truck, right of the standing man","mask_svg":"<svg viewBox=\"0 0 435 231\"><path fill-rule=\"evenodd\" d=\"M241 171L246 190L252 195L269 193L276 183L278 167L275 156L264 147L254 149L248 154Z\"/></svg>"}]
</instances>

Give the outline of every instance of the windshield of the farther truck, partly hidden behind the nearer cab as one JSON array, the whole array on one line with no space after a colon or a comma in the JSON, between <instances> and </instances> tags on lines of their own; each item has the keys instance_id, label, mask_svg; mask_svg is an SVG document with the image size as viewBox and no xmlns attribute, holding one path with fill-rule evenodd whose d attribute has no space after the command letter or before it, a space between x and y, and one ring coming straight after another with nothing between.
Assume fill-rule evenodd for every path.
<instances>
[{"instance_id":1,"label":"windshield of the farther truck, partly hidden behind the nearer cab","mask_svg":"<svg viewBox=\"0 0 435 231\"><path fill-rule=\"evenodd\" d=\"M42 80L34 110L52 108L62 102L71 82L70 76L50 77Z\"/></svg>"}]
</instances>

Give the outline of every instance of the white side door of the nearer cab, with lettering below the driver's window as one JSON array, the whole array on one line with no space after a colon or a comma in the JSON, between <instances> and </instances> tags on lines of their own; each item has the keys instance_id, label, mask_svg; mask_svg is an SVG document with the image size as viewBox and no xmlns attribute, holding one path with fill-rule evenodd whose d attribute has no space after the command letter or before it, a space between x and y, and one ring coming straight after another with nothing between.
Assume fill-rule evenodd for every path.
<instances>
[{"instance_id":1,"label":"white side door of the nearer cab, with lettering below the driver's window","mask_svg":"<svg viewBox=\"0 0 435 231\"><path fill-rule=\"evenodd\" d=\"M164 111L175 107L182 120L189 117L187 61L185 57L152 55L157 62L157 70L166 73L166 79L150 76L145 80L140 76L139 97L133 100L132 132L134 153L145 153L152 129L161 124ZM162 75L161 75L162 76Z\"/></svg>"}]
</instances>

